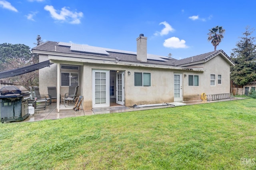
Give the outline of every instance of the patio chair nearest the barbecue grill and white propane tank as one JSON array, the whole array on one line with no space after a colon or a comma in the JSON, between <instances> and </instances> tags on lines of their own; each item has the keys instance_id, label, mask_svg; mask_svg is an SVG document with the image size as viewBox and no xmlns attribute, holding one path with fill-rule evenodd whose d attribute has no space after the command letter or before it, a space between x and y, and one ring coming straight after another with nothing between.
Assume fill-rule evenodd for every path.
<instances>
[{"instance_id":1,"label":"patio chair nearest the barbecue grill and white propane tank","mask_svg":"<svg viewBox=\"0 0 256 170\"><path fill-rule=\"evenodd\" d=\"M31 86L28 87L30 89L30 100L29 103L36 103L34 108L37 110L45 110L47 99L45 96L36 96ZM35 101L35 102L34 102Z\"/></svg>"}]
</instances>

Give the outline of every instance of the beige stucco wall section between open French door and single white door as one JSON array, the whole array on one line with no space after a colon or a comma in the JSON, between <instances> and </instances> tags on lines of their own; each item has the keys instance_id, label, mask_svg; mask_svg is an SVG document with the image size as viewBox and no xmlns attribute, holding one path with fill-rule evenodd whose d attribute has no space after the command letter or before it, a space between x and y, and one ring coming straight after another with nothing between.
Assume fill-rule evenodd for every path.
<instances>
[{"instance_id":1,"label":"beige stucco wall section between open French door and single white door","mask_svg":"<svg viewBox=\"0 0 256 170\"><path fill-rule=\"evenodd\" d=\"M172 70L130 67L127 71L131 72L130 75L126 74L125 79L125 101L127 106L173 102L174 75ZM134 86L134 72L151 73L151 86Z\"/></svg>"}]
</instances>

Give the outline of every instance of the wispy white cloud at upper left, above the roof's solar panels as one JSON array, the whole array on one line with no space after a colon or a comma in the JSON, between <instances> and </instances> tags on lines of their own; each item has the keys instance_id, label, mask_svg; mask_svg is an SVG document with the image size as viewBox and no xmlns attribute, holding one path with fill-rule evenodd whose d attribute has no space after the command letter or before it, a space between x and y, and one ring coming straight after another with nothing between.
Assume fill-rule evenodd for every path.
<instances>
[{"instance_id":1,"label":"wispy white cloud at upper left, above the roof's solar panels","mask_svg":"<svg viewBox=\"0 0 256 170\"><path fill-rule=\"evenodd\" d=\"M83 16L82 12L71 12L66 7L61 8L61 11L57 11L53 6L46 5L44 10L49 11L54 20L66 21L70 24L80 24L80 19Z\"/></svg>"}]
</instances>

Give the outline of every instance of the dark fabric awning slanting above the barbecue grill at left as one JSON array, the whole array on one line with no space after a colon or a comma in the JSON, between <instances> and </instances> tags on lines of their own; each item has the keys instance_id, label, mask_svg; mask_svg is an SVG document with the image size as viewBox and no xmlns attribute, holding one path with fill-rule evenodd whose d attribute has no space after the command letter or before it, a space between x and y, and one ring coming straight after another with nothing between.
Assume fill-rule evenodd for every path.
<instances>
[{"instance_id":1,"label":"dark fabric awning slanting above the barbecue grill at left","mask_svg":"<svg viewBox=\"0 0 256 170\"><path fill-rule=\"evenodd\" d=\"M33 65L28 65L28 66L25 66L25 67L21 67L21 68L18 68L18 69L3 71L3 72L0 72L0 79L6 78L6 77L14 77L16 75L21 75L21 74L24 74L24 73L29 73L29 72L47 67L51 64L53 64L53 63L50 63L50 60L47 60L47 61L36 63L36 64L33 64Z\"/></svg>"}]
</instances>

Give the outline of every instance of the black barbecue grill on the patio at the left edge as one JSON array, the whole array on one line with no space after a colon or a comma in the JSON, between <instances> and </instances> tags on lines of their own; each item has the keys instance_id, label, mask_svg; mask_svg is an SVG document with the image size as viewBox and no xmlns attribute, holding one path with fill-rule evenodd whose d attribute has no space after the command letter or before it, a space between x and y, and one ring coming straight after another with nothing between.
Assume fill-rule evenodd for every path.
<instances>
[{"instance_id":1,"label":"black barbecue grill on the patio at the left edge","mask_svg":"<svg viewBox=\"0 0 256 170\"><path fill-rule=\"evenodd\" d=\"M23 121L28 114L30 93L23 86L4 86L0 89L0 121Z\"/></svg>"}]
</instances>

